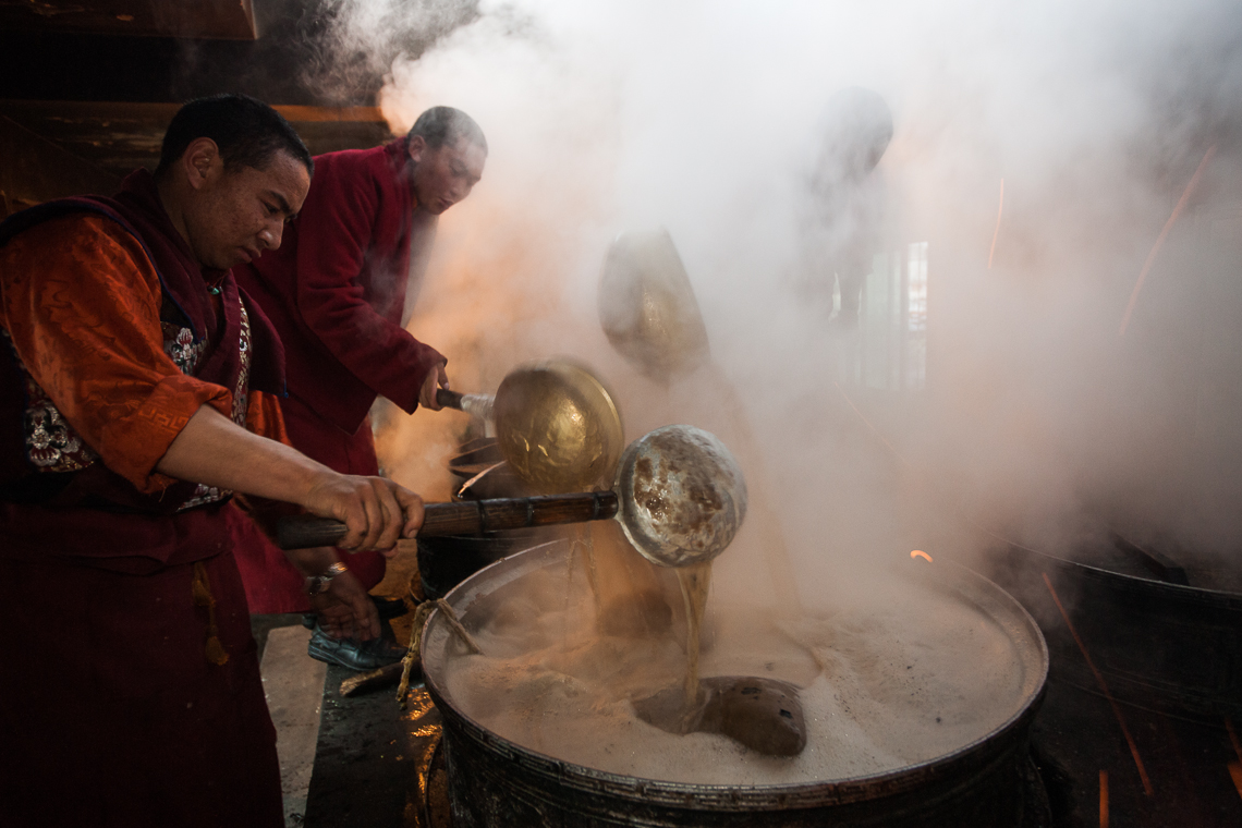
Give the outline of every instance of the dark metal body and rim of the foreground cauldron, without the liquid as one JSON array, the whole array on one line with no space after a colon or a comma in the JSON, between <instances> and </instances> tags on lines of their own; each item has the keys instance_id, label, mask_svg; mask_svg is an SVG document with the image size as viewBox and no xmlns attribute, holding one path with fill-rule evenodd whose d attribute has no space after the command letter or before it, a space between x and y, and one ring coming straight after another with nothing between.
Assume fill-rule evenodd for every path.
<instances>
[{"instance_id":1,"label":"dark metal body and rim of the foreground cauldron, without the liquid","mask_svg":"<svg viewBox=\"0 0 1242 828\"><path fill-rule=\"evenodd\" d=\"M545 566L564 566L554 541L474 574L446 596L467 628L491 613L505 587ZM1043 696L1048 653L1032 618L997 586L953 565L922 577L948 586L1010 636L1021 669L1021 704L985 737L934 761L889 773L816 783L688 785L620 776L535 752L486 730L445 690L450 632L427 619L422 669L443 716L455 828L597 828L602 826L851 826L1012 828L1022 824L1027 731ZM497 597L499 596L499 597ZM494 606L494 605L493 605Z\"/></svg>"}]
</instances>

